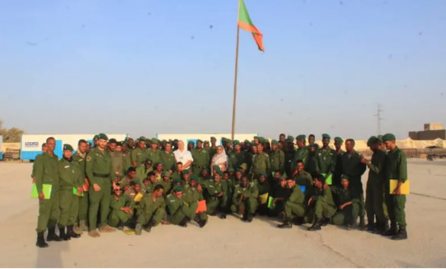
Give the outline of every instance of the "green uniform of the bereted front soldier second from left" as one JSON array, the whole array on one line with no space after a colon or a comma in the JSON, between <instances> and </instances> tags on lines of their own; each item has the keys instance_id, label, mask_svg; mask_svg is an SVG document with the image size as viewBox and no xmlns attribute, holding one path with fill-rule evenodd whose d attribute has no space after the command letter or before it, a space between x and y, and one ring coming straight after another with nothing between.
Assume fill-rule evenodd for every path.
<instances>
[{"instance_id":1,"label":"green uniform of the bereted front soldier second from left","mask_svg":"<svg viewBox=\"0 0 446 269\"><path fill-rule=\"evenodd\" d=\"M78 219L79 197L73 194L73 188L82 188L84 176L78 161L62 158L59 161L58 167L60 179L60 215L58 225L64 228L74 225Z\"/></svg>"}]
</instances>

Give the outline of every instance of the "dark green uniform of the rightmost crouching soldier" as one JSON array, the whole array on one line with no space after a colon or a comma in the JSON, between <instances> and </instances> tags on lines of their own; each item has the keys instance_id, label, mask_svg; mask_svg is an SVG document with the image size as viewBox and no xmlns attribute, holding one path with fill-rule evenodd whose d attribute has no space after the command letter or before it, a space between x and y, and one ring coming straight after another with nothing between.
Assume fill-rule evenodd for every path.
<instances>
[{"instance_id":1,"label":"dark green uniform of the rightmost crouching soldier","mask_svg":"<svg viewBox=\"0 0 446 269\"><path fill-rule=\"evenodd\" d=\"M332 188L333 194L335 195L336 206L338 206L338 210L336 214L331 218L331 221L335 225L355 225L356 220L358 219L359 213L359 196L358 192L352 190L349 186L347 189L344 189L343 186L334 186ZM347 205L343 209L340 209L339 206L344 203L352 202L351 205Z\"/></svg>"}]
</instances>

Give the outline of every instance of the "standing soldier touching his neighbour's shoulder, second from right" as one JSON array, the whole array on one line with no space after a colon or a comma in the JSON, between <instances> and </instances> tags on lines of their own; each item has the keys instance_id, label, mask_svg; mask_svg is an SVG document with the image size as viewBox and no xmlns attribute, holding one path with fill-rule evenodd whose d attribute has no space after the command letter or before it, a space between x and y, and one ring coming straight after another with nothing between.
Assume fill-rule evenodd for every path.
<instances>
[{"instance_id":1,"label":"standing soldier touching his neighbour's shoulder, second from right","mask_svg":"<svg viewBox=\"0 0 446 269\"><path fill-rule=\"evenodd\" d=\"M383 233L386 232L386 224L388 223L383 207L387 152L379 149L379 144L378 137L370 137L367 145L373 151L372 160L368 161L362 157L361 162L369 168L365 200L368 220L367 229L370 232L374 232L377 229L378 233Z\"/></svg>"}]
</instances>

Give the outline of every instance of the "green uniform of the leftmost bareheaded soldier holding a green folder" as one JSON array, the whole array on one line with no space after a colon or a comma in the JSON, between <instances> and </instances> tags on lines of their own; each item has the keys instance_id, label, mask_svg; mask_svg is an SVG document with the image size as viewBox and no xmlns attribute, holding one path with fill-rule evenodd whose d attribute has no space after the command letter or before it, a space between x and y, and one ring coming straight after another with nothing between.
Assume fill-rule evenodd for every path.
<instances>
[{"instance_id":1,"label":"green uniform of the leftmost bareheaded soldier holding a green folder","mask_svg":"<svg viewBox=\"0 0 446 269\"><path fill-rule=\"evenodd\" d=\"M42 153L36 162L36 187L38 193L43 193L43 184L50 184L51 195L45 200L39 199L39 217L37 232L45 232L46 228L54 230L59 217L59 170L58 157ZM49 199L48 199L49 198Z\"/></svg>"}]
</instances>

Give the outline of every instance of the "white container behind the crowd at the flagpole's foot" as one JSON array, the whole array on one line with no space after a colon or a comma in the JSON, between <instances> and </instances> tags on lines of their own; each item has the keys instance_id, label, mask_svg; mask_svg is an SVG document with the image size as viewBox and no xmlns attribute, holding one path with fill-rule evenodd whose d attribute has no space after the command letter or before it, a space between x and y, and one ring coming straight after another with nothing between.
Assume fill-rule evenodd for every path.
<instances>
[{"instance_id":1,"label":"white container behind the crowd at the flagpole's foot","mask_svg":"<svg viewBox=\"0 0 446 269\"><path fill-rule=\"evenodd\" d=\"M234 134L234 140L238 140L240 142L249 140L252 141L254 137L256 137L256 133L236 133ZM222 145L222 138L226 137L231 139L230 133L186 133L186 134L157 134L157 138L159 140L182 140L187 145L189 141L194 141L194 144L197 145L197 140L200 139L202 141L211 141L211 137L215 137L217 139L217 145Z\"/></svg>"}]
</instances>

